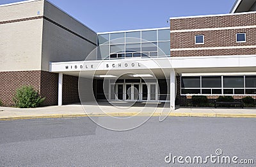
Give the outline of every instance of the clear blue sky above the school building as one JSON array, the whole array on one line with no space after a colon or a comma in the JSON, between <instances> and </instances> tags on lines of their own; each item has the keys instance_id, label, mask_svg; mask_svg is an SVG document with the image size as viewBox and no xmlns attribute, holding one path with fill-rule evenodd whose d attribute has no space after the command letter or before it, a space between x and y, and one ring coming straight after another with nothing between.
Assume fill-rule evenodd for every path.
<instances>
[{"instance_id":1,"label":"clear blue sky above the school building","mask_svg":"<svg viewBox=\"0 0 256 167\"><path fill-rule=\"evenodd\" d=\"M19 0L0 0L0 4ZM229 13L235 0L49 0L96 32L164 28L170 17Z\"/></svg>"}]
</instances>

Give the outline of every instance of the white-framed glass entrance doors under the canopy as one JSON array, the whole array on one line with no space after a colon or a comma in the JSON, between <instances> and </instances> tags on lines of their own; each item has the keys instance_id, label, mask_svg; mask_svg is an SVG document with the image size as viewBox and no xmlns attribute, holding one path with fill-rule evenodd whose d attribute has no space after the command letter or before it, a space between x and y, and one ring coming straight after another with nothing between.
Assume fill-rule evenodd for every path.
<instances>
[{"instance_id":1,"label":"white-framed glass entrance doors under the canopy","mask_svg":"<svg viewBox=\"0 0 256 167\"><path fill-rule=\"evenodd\" d=\"M111 100L125 101L157 101L158 88L156 83L118 83L111 84Z\"/></svg>"}]
</instances>

